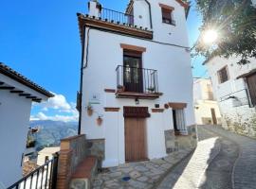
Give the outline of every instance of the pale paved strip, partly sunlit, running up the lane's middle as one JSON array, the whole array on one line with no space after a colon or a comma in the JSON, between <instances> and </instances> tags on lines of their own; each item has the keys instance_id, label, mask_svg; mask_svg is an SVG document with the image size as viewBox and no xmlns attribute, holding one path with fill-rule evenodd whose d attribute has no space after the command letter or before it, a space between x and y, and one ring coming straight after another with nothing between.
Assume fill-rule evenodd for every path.
<instances>
[{"instance_id":1,"label":"pale paved strip, partly sunlit, running up the lane's middle","mask_svg":"<svg viewBox=\"0 0 256 189\"><path fill-rule=\"evenodd\" d=\"M157 188L198 188L205 170L219 151L220 144L218 137L198 143L192 156L178 164Z\"/></svg>"}]
</instances>

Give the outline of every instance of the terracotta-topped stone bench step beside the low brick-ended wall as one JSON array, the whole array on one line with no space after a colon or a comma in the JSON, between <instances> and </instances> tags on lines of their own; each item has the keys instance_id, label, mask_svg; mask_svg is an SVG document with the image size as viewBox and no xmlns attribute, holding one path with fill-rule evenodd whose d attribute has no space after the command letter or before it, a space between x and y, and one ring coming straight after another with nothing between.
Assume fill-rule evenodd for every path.
<instances>
[{"instance_id":1,"label":"terracotta-topped stone bench step beside the low brick-ended wall","mask_svg":"<svg viewBox=\"0 0 256 189\"><path fill-rule=\"evenodd\" d=\"M92 186L98 170L98 160L95 156L88 156L78 165L71 177L70 189L89 189Z\"/></svg>"}]
</instances>

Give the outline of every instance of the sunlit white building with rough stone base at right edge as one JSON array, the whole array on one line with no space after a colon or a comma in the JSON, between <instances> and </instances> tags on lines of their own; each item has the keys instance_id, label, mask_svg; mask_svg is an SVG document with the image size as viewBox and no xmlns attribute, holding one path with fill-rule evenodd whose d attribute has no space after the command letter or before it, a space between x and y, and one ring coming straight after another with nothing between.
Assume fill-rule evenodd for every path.
<instances>
[{"instance_id":1,"label":"sunlit white building with rough stone base at right edge","mask_svg":"<svg viewBox=\"0 0 256 189\"><path fill-rule=\"evenodd\" d=\"M256 137L256 60L239 65L240 58L214 57L206 65L214 96L222 113L223 127Z\"/></svg>"}]
</instances>

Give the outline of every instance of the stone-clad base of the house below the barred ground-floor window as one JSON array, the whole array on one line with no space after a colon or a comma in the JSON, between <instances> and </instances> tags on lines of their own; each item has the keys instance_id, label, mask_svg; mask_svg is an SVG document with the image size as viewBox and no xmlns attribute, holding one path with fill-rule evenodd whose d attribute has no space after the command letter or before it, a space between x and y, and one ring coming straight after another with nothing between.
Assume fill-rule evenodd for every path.
<instances>
[{"instance_id":1,"label":"stone-clad base of the house below the barred ground-floor window","mask_svg":"<svg viewBox=\"0 0 256 189\"><path fill-rule=\"evenodd\" d=\"M188 127L188 135L175 135L174 130L165 130L166 153L170 154L179 149L195 148L197 146L196 126Z\"/></svg>"}]
</instances>

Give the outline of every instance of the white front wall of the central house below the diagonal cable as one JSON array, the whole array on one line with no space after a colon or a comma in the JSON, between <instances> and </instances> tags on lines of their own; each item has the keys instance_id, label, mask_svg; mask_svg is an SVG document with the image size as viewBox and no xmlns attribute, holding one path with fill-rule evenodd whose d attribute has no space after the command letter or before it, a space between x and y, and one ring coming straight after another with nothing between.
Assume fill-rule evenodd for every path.
<instances>
[{"instance_id":1,"label":"white front wall of the central house below the diagonal cable","mask_svg":"<svg viewBox=\"0 0 256 189\"><path fill-rule=\"evenodd\" d=\"M87 32L87 30L86 30ZM134 99L118 99L115 94L106 94L104 89L117 88L116 68L122 65L123 49L120 43L147 48L143 53L143 67L158 71L159 92L163 96L155 100L139 100L139 106L161 108L167 102L188 103L187 125L194 124L192 106L192 70L190 52L184 48L152 43L131 37L115 35L95 29L89 31L88 65L84 69L82 98L82 132L88 139L105 138L105 161L103 166L124 163L124 118L123 106L137 106ZM85 49L86 50L86 49ZM85 60L84 60L85 62ZM88 117L86 106L92 94L98 94L100 105L93 105L96 113ZM119 107L120 112L104 112L103 107ZM103 124L97 126L98 115L103 115ZM117 118L119 118L117 120ZM164 130L173 129L172 112L152 113L147 121L148 157L150 159L166 155Z\"/></svg>"}]
</instances>

